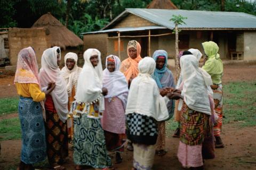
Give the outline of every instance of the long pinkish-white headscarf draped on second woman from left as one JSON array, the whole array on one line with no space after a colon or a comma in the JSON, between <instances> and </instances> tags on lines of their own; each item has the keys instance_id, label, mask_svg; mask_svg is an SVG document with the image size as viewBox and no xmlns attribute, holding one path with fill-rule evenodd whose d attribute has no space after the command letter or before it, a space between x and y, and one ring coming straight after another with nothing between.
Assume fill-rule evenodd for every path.
<instances>
[{"instance_id":1,"label":"long pinkish-white headscarf draped on second woman from left","mask_svg":"<svg viewBox=\"0 0 256 170\"><path fill-rule=\"evenodd\" d=\"M42 87L47 87L49 83L55 82L56 87L51 92L54 107L62 122L67 120L68 114L68 94L66 83L60 74L60 69L57 64L57 49L60 47L48 48L42 55L39 71L39 79Z\"/></svg>"}]
</instances>

